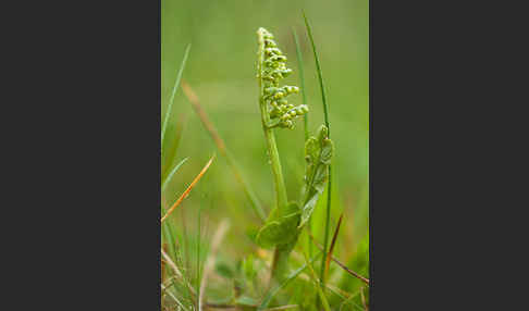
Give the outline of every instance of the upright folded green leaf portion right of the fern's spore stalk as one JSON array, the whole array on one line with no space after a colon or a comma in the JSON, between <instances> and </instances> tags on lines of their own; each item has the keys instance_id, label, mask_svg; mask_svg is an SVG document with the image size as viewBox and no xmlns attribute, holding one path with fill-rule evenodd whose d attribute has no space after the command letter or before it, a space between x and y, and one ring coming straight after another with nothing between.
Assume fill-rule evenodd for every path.
<instances>
[{"instance_id":1,"label":"upright folded green leaf portion right of the fern's spore stalk","mask_svg":"<svg viewBox=\"0 0 529 311\"><path fill-rule=\"evenodd\" d=\"M305 225L310 219L318 198L325 189L329 179L329 165L334 153L334 145L328 135L329 129L321 125L318 130L318 138L312 136L305 144L307 169L305 172L302 221L298 227Z\"/></svg>"}]
</instances>

